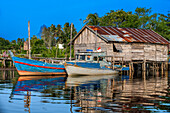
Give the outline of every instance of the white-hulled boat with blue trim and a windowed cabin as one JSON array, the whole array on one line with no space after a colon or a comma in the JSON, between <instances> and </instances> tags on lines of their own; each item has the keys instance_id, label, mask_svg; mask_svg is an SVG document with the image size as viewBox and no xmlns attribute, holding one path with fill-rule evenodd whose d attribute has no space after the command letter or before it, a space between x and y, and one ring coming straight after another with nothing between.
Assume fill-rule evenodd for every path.
<instances>
[{"instance_id":1,"label":"white-hulled boat with blue trim and a windowed cabin","mask_svg":"<svg viewBox=\"0 0 170 113\"><path fill-rule=\"evenodd\" d=\"M75 61L64 64L65 69L69 76L116 74L117 71L111 69L111 64L106 61L105 56L105 52L78 52Z\"/></svg>"}]
</instances>

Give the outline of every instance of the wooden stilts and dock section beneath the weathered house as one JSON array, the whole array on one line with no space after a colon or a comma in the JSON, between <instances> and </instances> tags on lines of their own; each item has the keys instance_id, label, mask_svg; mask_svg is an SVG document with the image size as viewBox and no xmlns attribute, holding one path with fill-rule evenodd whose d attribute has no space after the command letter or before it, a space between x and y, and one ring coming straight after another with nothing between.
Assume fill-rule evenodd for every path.
<instances>
[{"instance_id":1,"label":"wooden stilts and dock section beneath the weathered house","mask_svg":"<svg viewBox=\"0 0 170 113\"><path fill-rule=\"evenodd\" d=\"M154 74L155 72L161 72L162 75L169 70L170 62L167 61L154 61L154 60L124 60L124 57L118 56L107 56L111 59L112 69L120 71L121 75L129 75L133 77L134 74L145 74L150 71Z\"/></svg>"}]
</instances>

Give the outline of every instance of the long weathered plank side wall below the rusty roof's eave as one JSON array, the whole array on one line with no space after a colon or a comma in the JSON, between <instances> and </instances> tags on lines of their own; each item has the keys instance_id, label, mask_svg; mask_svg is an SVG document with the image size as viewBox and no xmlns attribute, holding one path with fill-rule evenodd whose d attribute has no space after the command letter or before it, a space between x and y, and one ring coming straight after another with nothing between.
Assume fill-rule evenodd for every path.
<instances>
[{"instance_id":1,"label":"long weathered plank side wall below the rusty roof's eave","mask_svg":"<svg viewBox=\"0 0 170 113\"><path fill-rule=\"evenodd\" d=\"M150 60L167 61L168 47L161 44L150 43L114 43L121 47L121 53L114 52L114 56L123 56L125 61ZM119 47L119 48L120 48ZM111 54L110 54L111 55Z\"/></svg>"}]
</instances>

